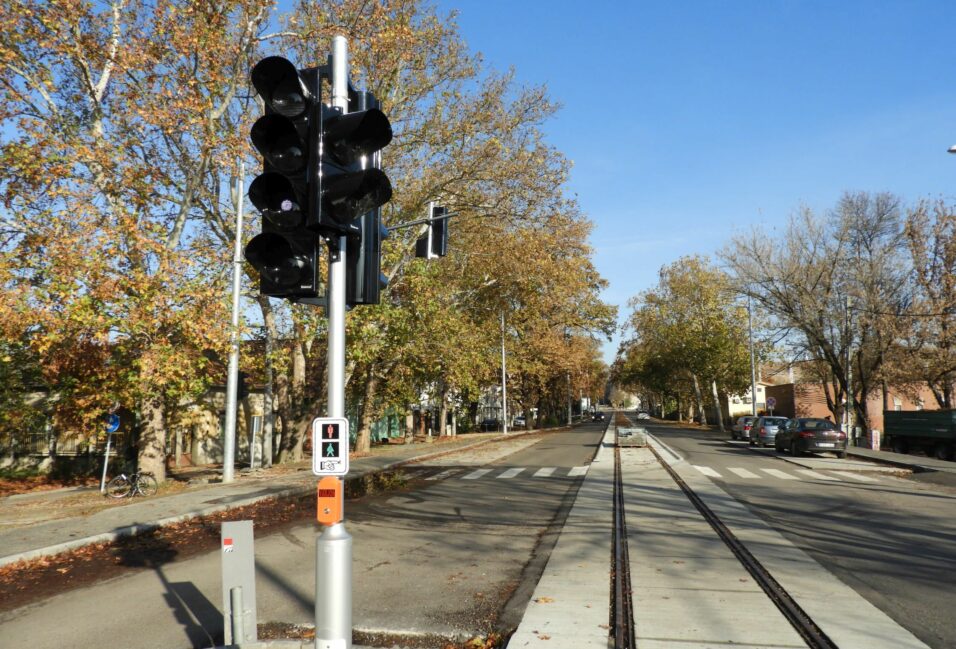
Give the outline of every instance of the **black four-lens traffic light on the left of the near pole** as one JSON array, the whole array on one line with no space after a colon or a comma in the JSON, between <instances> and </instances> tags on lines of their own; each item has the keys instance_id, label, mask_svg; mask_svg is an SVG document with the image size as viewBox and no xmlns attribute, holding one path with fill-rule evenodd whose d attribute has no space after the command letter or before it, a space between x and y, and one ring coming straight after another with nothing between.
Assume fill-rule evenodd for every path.
<instances>
[{"instance_id":1,"label":"black four-lens traffic light on the left of the near pole","mask_svg":"<svg viewBox=\"0 0 956 649\"><path fill-rule=\"evenodd\" d=\"M262 232L246 245L246 260L259 272L263 295L293 302L319 296L318 220L321 101L319 70L297 70L270 56L252 68L252 84L265 115L252 126L263 173L249 186L262 214Z\"/></svg>"}]
</instances>

